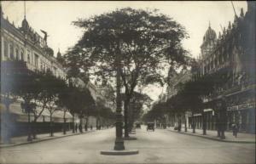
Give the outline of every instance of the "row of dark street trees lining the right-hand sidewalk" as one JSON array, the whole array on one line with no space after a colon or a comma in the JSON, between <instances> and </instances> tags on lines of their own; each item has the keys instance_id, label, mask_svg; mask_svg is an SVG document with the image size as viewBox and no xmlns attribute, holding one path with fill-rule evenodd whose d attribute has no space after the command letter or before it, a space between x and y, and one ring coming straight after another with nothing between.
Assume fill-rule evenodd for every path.
<instances>
[{"instance_id":1,"label":"row of dark street trees lining the right-hand sidewalk","mask_svg":"<svg viewBox=\"0 0 256 164\"><path fill-rule=\"evenodd\" d=\"M166 102L155 104L145 116L145 119L159 120L165 115L178 116L178 127L181 127L181 116L185 116L186 112L190 111L192 116L191 127L195 133L195 113L201 113L203 134L207 133L207 120L204 109L212 108L217 115L218 136L224 138L225 122L226 122L226 105L224 97L221 99L211 99L205 102L205 99L210 99L215 91L224 86L230 80L226 70L212 73L205 76L199 76L197 65L192 65L191 71L193 77L184 83L180 83L177 88L177 94L167 99ZM186 119L185 119L186 121ZM187 132L187 123L184 122L185 132ZM180 131L180 128L178 128Z\"/></svg>"}]
</instances>

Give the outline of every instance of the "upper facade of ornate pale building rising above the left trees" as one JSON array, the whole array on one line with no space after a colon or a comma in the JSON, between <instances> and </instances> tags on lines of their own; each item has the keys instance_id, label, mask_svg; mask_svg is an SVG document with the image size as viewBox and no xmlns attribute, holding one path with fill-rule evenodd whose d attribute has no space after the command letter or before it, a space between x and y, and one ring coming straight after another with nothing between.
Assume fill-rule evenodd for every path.
<instances>
[{"instance_id":1,"label":"upper facade of ornate pale building rising above the left trees","mask_svg":"<svg viewBox=\"0 0 256 164\"><path fill-rule=\"evenodd\" d=\"M32 29L26 17L21 27L16 27L1 14L1 61L22 60L29 70L49 70L57 77L66 78L64 68L49 52L46 39L47 36L43 38Z\"/></svg>"}]
</instances>

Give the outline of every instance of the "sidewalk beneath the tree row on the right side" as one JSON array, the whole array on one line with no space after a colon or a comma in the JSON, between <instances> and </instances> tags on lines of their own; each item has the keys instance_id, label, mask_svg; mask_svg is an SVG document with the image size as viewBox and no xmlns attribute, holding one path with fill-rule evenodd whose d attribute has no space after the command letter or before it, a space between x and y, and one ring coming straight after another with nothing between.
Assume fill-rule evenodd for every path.
<instances>
[{"instance_id":1,"label":"sidewalk beneath the tree row on the right side","mask_svg":"<svg viewBox=\"0 0 256 164\"><path fill-rule=\"evenodd\" d=\"M255 144L255 134L252 134L252 133L238 133L236 138L233 136L232 132L225 132L226 139L219 139L217 137L217 131L212 131L212 130L207 130L207 135L203 135L202 129L195 129L195 133L192 133L192 129L189 129L189 128L188 128L188 132L184 132L184 129L182 129L181 132L177 132L177 130L174 130L174 127L168 127L167 129L175 133L182 133L182 134L192 135L192 136L201 137L205 139L218 140L222 142L254 143Z\"/></svg>"}]
</instances>

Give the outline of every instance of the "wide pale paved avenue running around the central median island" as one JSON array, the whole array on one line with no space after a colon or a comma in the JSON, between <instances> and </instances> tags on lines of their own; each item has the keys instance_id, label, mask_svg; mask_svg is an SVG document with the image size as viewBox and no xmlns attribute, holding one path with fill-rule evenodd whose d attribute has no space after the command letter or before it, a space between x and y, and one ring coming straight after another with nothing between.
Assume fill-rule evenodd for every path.
<instances>
[{"instance_id":1,"label":"wide pale paved avenue running around the central median island","mask_svg":"<svg viewBox=\"0 0 256 164\"><path fill-rule=\"evenodd\" d=\"M165 129L137 129L137 140L125 141L138 155L104 156L113 149L115 129L84 133L1 149L0 163L255 163L255 144L224 143Z\"/></svg>"}]
</instances>

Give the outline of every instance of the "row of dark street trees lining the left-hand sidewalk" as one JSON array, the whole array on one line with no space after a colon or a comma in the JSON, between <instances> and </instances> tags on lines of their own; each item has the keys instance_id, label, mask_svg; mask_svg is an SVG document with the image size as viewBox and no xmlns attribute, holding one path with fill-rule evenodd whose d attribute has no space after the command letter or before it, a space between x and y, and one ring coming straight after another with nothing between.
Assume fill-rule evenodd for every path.
<instances>
[{"instance_id":1,"label":"row of dark street trees lining the left-hand sidewalk","mask_svg":"<svg viewBox=\"0 0 256 164\"><path fill-rule=\"evenodd\" d=\"M9 106L17 99L21 99L20 107L28 117L28 140L37 138L37 121L44 110L49 111L50 136L54 135L53 115L56 110L63 111L64 134L67 130L67 111L72 113L73 122L75 114L78 114L81 119L85 116L87 121L88 116L98 115L95 101L87 88L77 88L72 81L57 78L50 71L29 71L26 63L22 61L4 61L1 65L1 103L6 109L1 113L3 121L1 139L5 143L10 141L12 133L10 127L13 127L15 122L11 118ZM102 112L106 111L100 110L99 113ZM113 112L108 110L108 115L113 115Z\"/></svg>"}]
</instances>

